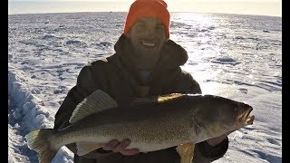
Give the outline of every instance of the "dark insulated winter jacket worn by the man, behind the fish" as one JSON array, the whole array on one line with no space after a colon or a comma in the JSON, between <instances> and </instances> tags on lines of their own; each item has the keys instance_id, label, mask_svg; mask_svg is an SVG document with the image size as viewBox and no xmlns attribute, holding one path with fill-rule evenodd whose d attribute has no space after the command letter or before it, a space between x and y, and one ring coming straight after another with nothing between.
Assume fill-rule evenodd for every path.
<instances>
[{"instance_id":1,"label":"dark insulated winter jacket worn by the man, behind the fish","mask_svg":"<svg viewBox=\"0 0 290 163\"><path fill-rule=\"evenodd\" d=\"M169 40L160 51L160 59L153 68L150 79L143 82L140 74L132 64L132 47L130 40L122 34L114 45L111 56L91 62L84 66L78 75L77 83L64 99L56 112L54 129L63 129L70 125L69 119L76 105L93 91L107 92L118 105L126 104L134 97L164 95L169 93L201 93L198 82L189 72L180 66L188 60L188 53L179 44ZM66 146L74 154L75 163L175 163L180 157L176 147L162 149L132 156L97 149L82 157L76 155L75 143ZM228 139L215 147L206 141L196 144L195 162L211 162L221 158L227 151Z\"/></svg>"}]
</instances>

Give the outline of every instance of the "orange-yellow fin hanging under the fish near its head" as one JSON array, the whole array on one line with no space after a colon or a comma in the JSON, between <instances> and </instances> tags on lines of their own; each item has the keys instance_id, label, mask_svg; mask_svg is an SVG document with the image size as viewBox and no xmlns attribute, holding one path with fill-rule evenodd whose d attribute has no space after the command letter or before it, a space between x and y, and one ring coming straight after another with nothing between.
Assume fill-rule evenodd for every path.
<instances>
[{"instance_id":1,"label":"orange-yellow fin hanging under the fish near its head","mask_svg":"<svg viewBox=\"0 0 290 163\"><path fill-rule=\"evenodd\" d=\"M180 163L191 163L194 152L194 143L180 144L176 150L181 158Z\"/></svg>"}]
</instances>

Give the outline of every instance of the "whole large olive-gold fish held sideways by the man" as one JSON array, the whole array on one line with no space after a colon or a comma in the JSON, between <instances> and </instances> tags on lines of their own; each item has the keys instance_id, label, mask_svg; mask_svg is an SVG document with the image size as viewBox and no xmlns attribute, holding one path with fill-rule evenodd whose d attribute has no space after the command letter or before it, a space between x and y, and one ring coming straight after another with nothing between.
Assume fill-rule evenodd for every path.
<instances>
[{"instance_id":1,"label":"whole large olive-gold fish held sideways by the man","mask_svg":"<svg viewBox=\"0 0 290 163\"><path fill-rule=\"evenodd\" d=\"M25 136L41 163L51 162L64 145L76 143L79 156L111 139L131 139L128 149L149 152L177 146L189 163L196 143L253 124L252 107L213 95L172 93L118 106L104 91L94 91L73 110L65 129L38 129Z\"/></svg>"}]
</instances>

